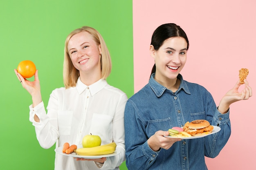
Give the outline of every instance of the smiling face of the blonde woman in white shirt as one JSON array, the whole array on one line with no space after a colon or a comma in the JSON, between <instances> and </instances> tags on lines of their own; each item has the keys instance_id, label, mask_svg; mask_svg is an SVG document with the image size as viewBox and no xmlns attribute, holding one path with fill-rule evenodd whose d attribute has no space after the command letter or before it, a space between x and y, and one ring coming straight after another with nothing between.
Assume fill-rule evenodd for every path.
<instances>
[{"instance_id":1,"label":"smiling face of the blonde woman in white shirt","mask_svg":"<svg viewBox=\"0 0 256 170\"><path fill-rule=\"evenodd\" d=\"M82 31L73 35L68 42L67 50L80 76L101 76L101 45L95 42L90 33Z\"/></svg>"}]
</instances>

